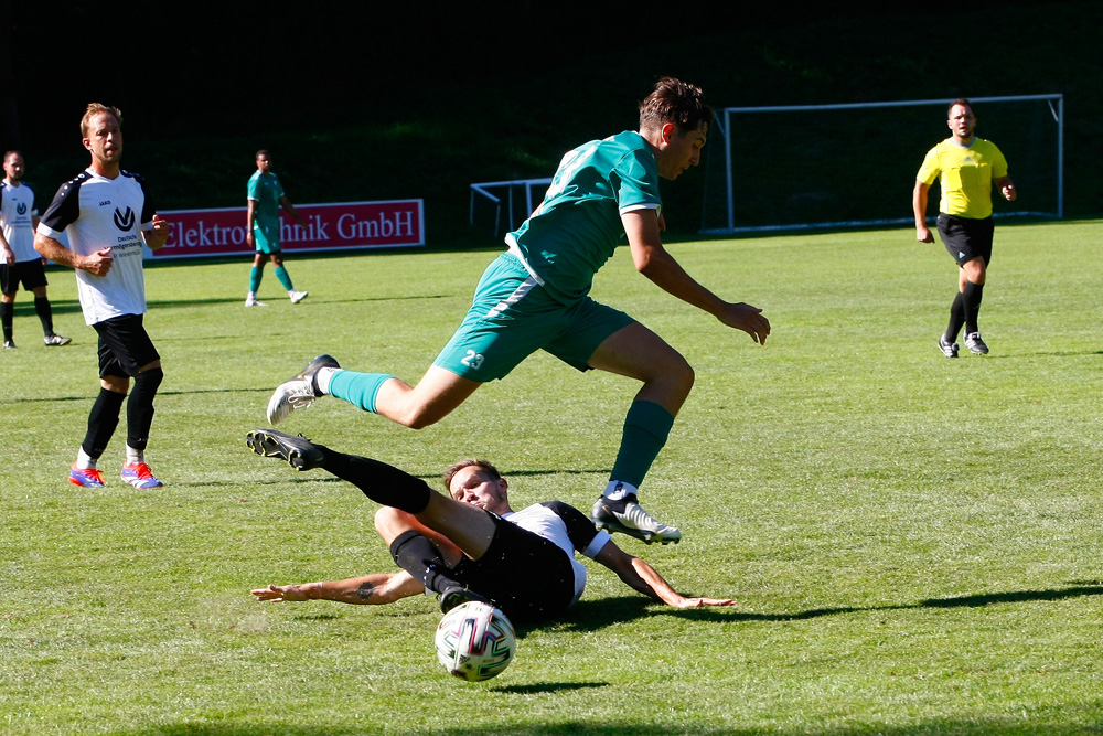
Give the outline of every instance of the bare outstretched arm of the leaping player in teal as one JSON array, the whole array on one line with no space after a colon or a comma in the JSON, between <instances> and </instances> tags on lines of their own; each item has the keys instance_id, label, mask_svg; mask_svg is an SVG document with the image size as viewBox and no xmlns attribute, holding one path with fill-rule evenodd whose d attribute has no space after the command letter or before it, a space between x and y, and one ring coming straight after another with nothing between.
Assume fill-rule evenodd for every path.
<instances>
[{"instance_id":1,"label":"bare outstretched arm of the leaping player in teal","mask_svg":"<svg viewBox=\"0 0 1103 736\"><path fill-rule=\"evenodd\" d=\"M743 302L729 302L698 284L674 259L660 236L660 218L654 210L636 210L621 215L635 269L655 286L688 305L713 314L728 327L742 330L765 344L770 320L762 310Z\"/></svg>"}]
</instances>

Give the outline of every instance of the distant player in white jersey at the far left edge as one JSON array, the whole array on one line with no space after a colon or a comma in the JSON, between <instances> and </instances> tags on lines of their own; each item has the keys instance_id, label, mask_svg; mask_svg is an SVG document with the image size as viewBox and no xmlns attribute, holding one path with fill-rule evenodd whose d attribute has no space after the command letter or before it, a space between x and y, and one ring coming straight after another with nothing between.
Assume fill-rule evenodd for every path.
<instances>
[{"instance_id":1,"label":"distant player in white jersey at the far left edge","mask_svg":"<svg viewBox=\"0 0 1103 736\"><path fill-rule=\"evenodd\" d=\"M0 323L3 324L4 350L13 350L15 294L20 282L34 295L34 312L42 322L46 348L72 342L54 333L53 309L46 298L46 270L42 256L34 252L34 228L39 212L34 209L34 192L23 183L23 154L3 154L3 181L0 181Z\"/></svg>"}]
</instances>

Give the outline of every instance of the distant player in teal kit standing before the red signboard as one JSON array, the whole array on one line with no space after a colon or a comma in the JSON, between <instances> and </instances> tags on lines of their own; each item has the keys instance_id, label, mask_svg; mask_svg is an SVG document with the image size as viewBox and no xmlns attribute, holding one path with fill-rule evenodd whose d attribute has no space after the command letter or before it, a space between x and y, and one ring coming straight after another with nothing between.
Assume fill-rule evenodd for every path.
<instances>
[{"instance_id":1,"label":"distant player in teal kit standing before the red signboard","mask_svg":"<svg viewBox=\"0 0 1103 736\"><path fill-rule=\"evenodd\" d=\"M271 158L268 151L257 151L257 170L249 178L249 206L246 212L248 225L245 228L245 242L257 249L253 259L253 273L249 276L249 295L245 298L246 307L267 307L257 300L257 289L265 275L265 260L270 258L276 278L287 289L291 303L297 305L307 298L306 291L296 291L291 277L283 268L283 252L279 247L279 209L283 206L303 227L307 223L296 211L291 201L283 193L283 186L272 173Z\"/></svg>"}]
</instances>

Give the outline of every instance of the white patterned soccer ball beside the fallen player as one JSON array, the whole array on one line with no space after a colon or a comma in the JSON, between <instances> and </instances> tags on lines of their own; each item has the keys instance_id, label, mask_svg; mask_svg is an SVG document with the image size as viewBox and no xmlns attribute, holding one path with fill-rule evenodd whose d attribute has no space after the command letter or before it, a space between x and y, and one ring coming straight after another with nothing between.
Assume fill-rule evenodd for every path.
<instances>
[{"instance_id":1,"label":"white patterned soccer ball beside the fallen player","mask_svg":"<svg viewBox=\"0 0 1103 736\"><path fill-rule=\"evenodd\" d=\"M437 659L449 673L468 682L502 673L517 651L517 636L505 614L490 604L469 600L445 614L437 626Z\"/></svg>"}]
</instances>

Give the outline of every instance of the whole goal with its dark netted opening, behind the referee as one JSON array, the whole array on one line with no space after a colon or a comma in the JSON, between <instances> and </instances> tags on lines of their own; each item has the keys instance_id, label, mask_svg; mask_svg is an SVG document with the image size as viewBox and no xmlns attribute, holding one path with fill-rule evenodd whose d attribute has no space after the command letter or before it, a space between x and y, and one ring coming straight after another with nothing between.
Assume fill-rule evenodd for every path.
<instances>
[{"instance_id":1,"label":"whole goal with its dark netted opening, behind the referee","mask_svg":"<svg viewBox=\"0 0 1103 736\"><path fill-rule=\"evenodd\" d=\"M911 191L928 150L947 136L953 100L725 107L706 151L702 233L913 222ZM1019 190L995 216L1064 216L1064 96L972 97L977 135L1007 157ZM914 107L941 107L909 110ZM938 183L931 199L936 210ZM929 214L938 214L936 212Z\"/></svg>"}]
</instances>

